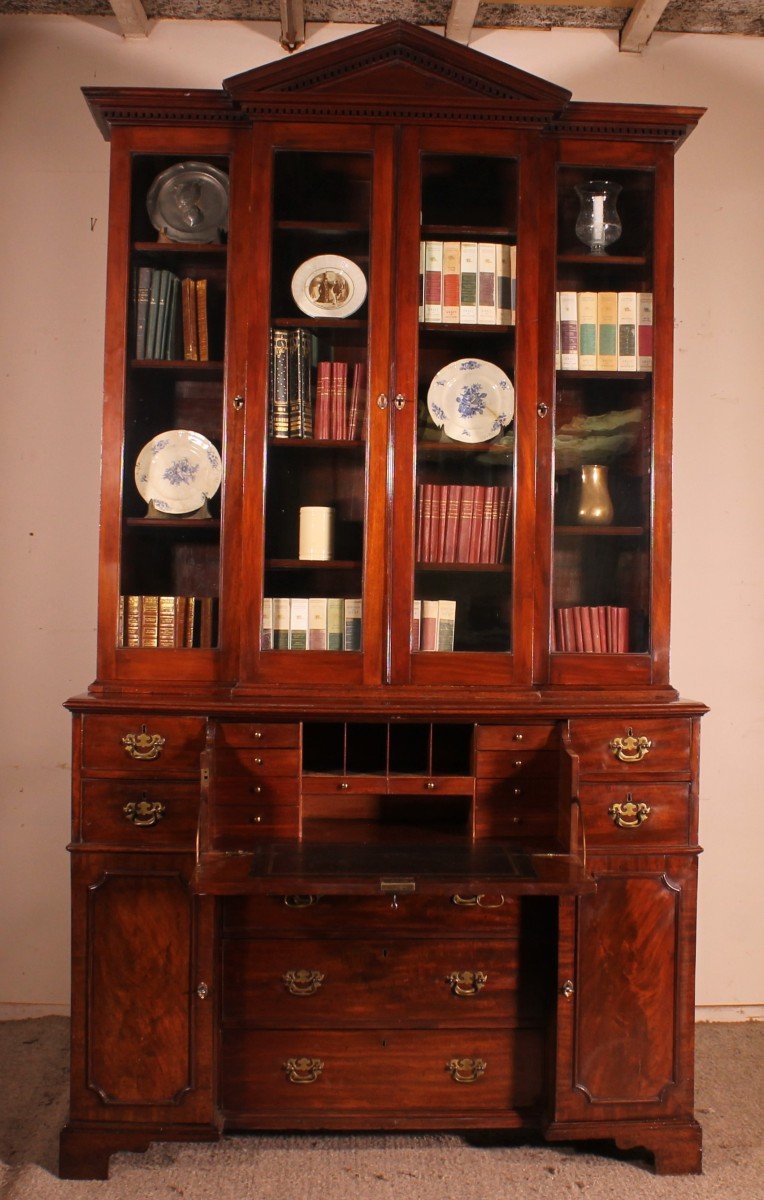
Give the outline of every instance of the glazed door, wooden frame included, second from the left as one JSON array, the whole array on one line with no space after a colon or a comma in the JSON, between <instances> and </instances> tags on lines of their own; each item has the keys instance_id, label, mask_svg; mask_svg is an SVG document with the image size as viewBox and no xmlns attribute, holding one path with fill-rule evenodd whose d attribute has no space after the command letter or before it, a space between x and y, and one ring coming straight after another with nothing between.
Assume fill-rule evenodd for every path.
<instances>
[{"instance_id":1,"label":"glazed door, wooden frame included, second from the left","mask_svg":"<svg viewBox=\"0 0 764 1200\"><path fill-rule=\"evenodd\" d=\"M391 130L255 131L245 679L381 677L392 203Z\"/></svg>"}]
</instances>

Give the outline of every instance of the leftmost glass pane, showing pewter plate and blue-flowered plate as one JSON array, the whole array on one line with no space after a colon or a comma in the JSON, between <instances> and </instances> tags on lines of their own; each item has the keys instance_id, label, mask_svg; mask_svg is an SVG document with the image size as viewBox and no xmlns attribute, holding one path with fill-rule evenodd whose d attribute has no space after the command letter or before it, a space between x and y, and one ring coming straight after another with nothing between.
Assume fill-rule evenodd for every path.
<instances>
[{"instance_id":1,"label":"leftmost glass pane, showing pewter plate and blue-flowered plate","mask_svg":"<svg viewBox=\"0 0 764 1200\"><path fill-rule=\"evenodd\" d=\"M218 643L228 161L133 162L119 644ZM198 236L199 240L195 240Z\"/></svg>"}]
</instances>

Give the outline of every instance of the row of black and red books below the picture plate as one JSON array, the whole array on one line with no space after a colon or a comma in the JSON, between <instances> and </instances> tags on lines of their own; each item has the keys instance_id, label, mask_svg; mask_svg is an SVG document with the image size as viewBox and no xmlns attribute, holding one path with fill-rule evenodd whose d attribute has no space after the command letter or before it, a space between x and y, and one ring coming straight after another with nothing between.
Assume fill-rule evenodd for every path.
<instances>
[{"instance_id":1,"label":"row of black and red books below the picture plate","mask_svg":"<svg viewBox=\"0 0 764 1200\"><path fill-rule=\"evenodd\" d=\"M271 330L269 433L354 442L363 427L366 365L318 362L317 344L307 329Z\"/></svg>"}]
</instances>

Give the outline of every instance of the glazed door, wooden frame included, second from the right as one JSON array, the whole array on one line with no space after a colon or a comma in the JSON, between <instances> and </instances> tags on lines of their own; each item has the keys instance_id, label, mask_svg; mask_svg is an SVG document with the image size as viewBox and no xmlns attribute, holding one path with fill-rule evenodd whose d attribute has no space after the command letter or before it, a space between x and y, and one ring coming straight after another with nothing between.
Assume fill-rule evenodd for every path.
<instances>
[{"instance_id":1,"label":"glazed door, wooden frame included, second from the right","mask_svg":"<svg viewBox=\"0 0 764 1200\"><path fill-rule=\"evenodd\" d=\"M392 679L528 674L536 226L524 139L407 130L397 236Z\"/></svg>"}]
</instances>

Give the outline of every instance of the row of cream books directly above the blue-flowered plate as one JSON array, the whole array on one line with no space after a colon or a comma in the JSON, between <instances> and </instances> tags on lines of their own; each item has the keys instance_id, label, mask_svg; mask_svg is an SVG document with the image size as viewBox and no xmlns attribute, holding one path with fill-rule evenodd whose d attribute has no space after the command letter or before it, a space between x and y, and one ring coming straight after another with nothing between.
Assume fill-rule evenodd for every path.
<instances>
[{"instance_id":1,"label":"row of cream books directly above the blue-flowered plate","mask_svg":"<svg viewBox=\"0 0 764 1200\"><path fill-rule=\"evenodd\" d=\"M517 247L501 242L420 242L420 320L513 325Z\"/></svg>"}]
</instances>

